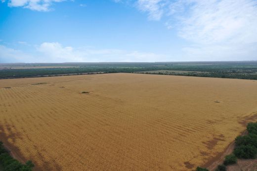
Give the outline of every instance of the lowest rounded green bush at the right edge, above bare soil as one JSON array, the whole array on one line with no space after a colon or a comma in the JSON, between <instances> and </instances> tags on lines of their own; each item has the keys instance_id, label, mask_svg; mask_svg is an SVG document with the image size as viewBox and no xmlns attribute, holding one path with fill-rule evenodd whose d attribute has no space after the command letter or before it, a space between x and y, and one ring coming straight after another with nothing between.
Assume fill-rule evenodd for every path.
<instances>
[{"instance_id":1,"label":"lowest rounded green bush at the right edge, above bare soil","mask_svg":"<svg viewBox=\"0 0 257 171\"><path fill-rule=\"evenodd\" d=\"M252 145L241 145L235 148L234 154L241 159L255 159L257 148Z\"/></svg>"}]
</instances>

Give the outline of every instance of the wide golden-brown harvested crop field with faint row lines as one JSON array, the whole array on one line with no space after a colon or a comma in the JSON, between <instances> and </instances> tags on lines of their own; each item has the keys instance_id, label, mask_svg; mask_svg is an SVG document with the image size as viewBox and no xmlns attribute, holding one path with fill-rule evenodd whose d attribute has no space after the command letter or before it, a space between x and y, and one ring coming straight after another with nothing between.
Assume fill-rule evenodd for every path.
<instances>
[{"instance_id":1,"label":"wide golden-brown harvested crop field with faint row lines","mask_svg":"<svg viewBox=\"0 0 257 171\"><path fill-rule=\"evenodd\" d=\"M0 80L0 140L36 170L190 171L215 160L250 121L257 121L253 80Z\"/></svg>"}]
</instances>

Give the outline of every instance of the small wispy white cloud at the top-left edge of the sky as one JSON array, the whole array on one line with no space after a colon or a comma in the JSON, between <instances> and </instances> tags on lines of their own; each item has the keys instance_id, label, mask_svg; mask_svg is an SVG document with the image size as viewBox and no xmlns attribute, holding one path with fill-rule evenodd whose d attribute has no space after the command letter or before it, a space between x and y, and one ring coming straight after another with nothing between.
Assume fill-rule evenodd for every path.
<instances>
[{"instance_id":1,"label":"small wispy white cloud at the top-left edge of the sky","mask_svg":"<svg viewBox=\"0 0 257 171\"><path fill-rule=\"evenodd\" d=\"M10 7L24 7L36 11L49 11L53 2L61 2L65 0L8 0ZM4 0L2 0L4 2Z\"/></svg>"}]
</instances>

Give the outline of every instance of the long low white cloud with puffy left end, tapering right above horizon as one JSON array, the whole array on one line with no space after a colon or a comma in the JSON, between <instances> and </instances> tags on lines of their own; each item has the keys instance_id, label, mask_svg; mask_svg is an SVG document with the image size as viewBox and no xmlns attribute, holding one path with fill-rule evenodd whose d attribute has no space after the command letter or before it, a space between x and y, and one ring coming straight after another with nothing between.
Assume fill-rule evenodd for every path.
<instances>
[{"instance_id":1,"label":"long low white cloud with puffy left end, tapering right above horizon","mask_svg":"<svg viewBox=\"0 0 257 171\"><path fill-rule=\"evenodd\" d=\"M155 53L126 51L120 49L73 48L60 43L42 43L38 48L50 61L55 62L154 62L164 55Z\"/></svg>"}]
</instances>

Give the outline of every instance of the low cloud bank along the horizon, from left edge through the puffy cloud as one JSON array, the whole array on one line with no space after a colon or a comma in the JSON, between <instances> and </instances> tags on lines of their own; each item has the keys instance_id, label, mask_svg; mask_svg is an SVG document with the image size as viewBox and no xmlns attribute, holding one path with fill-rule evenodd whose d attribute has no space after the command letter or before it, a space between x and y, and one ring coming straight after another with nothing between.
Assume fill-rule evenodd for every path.
<instances>
[{"instance_id":1,"label":"low cloud bank along the horizon, from left edge through the puffy cloud","mask_svg":"<svg viewBox=\"0 0 257 171\"><path fill-rule=\"evenodd\" d=\"M0 62L155 62L167 60L166 55L152 52L93 47L74 48L57 42L45 42L30 47L29 52L23 52L0 45Z\"/></svg>"}]
</instances>

